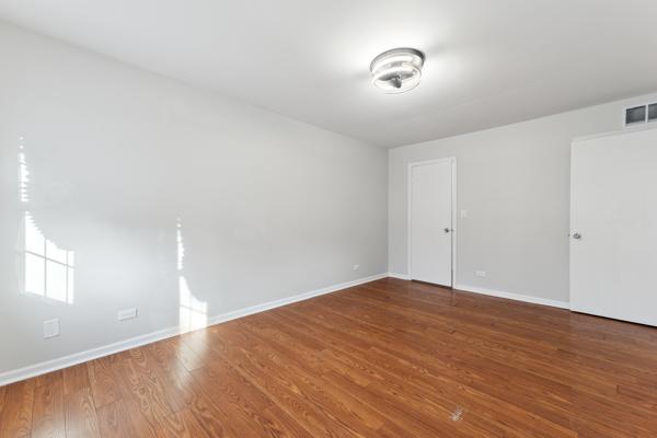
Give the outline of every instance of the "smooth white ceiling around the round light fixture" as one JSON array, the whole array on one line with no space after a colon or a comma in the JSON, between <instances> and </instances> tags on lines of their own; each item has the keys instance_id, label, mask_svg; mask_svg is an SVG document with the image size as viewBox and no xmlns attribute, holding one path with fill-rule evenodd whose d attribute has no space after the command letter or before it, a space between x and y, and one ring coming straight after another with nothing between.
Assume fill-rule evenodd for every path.
<instances>
[{"instance_id":1,"label":"smooth white ceiling around the round light fixture","mask_svg":"<svg viewBox=\"0 0 657 438\"><path fill-rule=\"evenodd\" d=\"M0 18L384 147L657 90L655 0L0 0ZM427 54L388 95L369 62Z\"/></svg>"}]
</instances>

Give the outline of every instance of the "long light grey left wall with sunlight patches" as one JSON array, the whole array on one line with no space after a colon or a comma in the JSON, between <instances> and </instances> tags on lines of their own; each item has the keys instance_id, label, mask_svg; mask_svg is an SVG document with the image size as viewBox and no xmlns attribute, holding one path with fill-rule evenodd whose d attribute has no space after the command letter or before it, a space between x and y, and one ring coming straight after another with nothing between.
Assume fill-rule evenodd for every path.
<instances>
[{"instance_id":1,"label":"long light grey left wall with sunlight patches","mask_svg":"<svg viewBox=\"0 0 657 438\"><path fill-rule=\"evenodd\" d=\"M8 25L0 58L0 372L387 272L387 151ZM71 302L24 290L26 210Z\"/></svg>"}]
</instances>

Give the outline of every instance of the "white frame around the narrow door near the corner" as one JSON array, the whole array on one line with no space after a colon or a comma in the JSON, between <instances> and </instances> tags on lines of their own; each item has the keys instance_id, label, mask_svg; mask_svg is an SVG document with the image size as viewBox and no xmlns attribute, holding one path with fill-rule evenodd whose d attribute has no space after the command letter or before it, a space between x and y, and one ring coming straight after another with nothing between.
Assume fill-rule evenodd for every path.
<instances>
[{"instance_id":1,"label":"white frame around the narrow door near the corner","mask_svg":"<svg viewBox=\"0 0 657 438\"><path fill-rule=\"evenodd\" d=\"M407 193L406 193L406 197L407 197L407 203L406 203L406 242L407 242L407 266L406 266L406 272L408 273L408 279L412 280L412 266L413 266L413 261L411 260L411 254L412 253L412 239L411 239L411 233L412 233L412 226L411 226L411 212L412 210L412 199L413 199L413 182L412 182L412 170L415 166L419 166L419 165L426 165L426 164L435 164L435 163L439 163L439 162L443 162L443 161L449 161L451 164L451 200L452 200L452 205L451 205L451 209L452 209L452 215L451 215L451 234L452 234L452 240L451 240L451 285L450 287L453 288L454 285L457 284L457 239L458 239L458 232L457 232L457 158L456 157L447 157L447 158L440 158L440 159L436 159L436 160L426 160L426 161L413 161L413 162L408 162L407 164L407 169L406 169L406 185L407 185Z\"/></svg>"}]
</instances>

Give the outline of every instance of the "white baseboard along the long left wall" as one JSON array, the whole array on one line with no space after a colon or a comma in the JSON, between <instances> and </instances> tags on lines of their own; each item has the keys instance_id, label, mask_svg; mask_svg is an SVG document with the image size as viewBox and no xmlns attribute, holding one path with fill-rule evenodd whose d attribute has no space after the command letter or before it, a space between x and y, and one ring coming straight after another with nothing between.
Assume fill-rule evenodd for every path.
<instances>
[{"instance_id":1,"label":"white baseboard along the long left wall","mask_svg":"<svg viewBox=\"0 0 657 438\"><path fill-rule=\"evenodd\" d=\"M250 314L263 312L265 310L275 309L281 306L291 304L293 302L308 300L309 298L319 297L321 295L335 292L349 287L362 285L365 283L374 281L381 278L388 277L389 274L372 275L370 277L359 278L353 281L342 283L339 285L333 285L325 288L311 290L309 292L295 295L292 297L283 298L276 301L269 301L262 304L252 306L245 309L235 310L208 318L208 326L220 324L238 318L247 316ZM89 360L97 359L99 357L112 355L114 353L124 351L126 349L140 347L146 344L151 344L158 341L165 339L168 337L176 336L185 331L180 327L169 327L159 330L157 332L148 333L129 339L119 341L114 344L103 345L101 347L88 349L72 355L62 356L57 359L47 360L41 364L31 365L24 368L19 368L11 371L0 373L0 387L9 383L18 382L21 380L30 379L36 376L45 374L51 371L56 371L62 368L72 367L73 365L82 364Z\"/></svg>"}]
</instances>

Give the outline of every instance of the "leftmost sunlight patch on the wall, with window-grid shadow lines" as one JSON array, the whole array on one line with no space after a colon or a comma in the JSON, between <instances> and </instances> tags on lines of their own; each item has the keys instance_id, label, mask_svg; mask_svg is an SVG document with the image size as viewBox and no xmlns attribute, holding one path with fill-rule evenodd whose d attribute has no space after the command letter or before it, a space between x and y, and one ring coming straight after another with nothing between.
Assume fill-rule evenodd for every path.
<instances>
[{"instance_id":1,"label":"leftmost sunlight patch on the wall, with window-grid shadow lines","mask_svg":"<svg viewBox=\"0 0 657 438\"><path fill-rule=\"evenodd\" d=\"M23 140L21 138L21 140ZM30 211L30 171L24 147L19 153L20 200L24 206L21 239L23 290L53 300L73 303L74 254L43 234Z\"/></svg>"}]
</instances>

